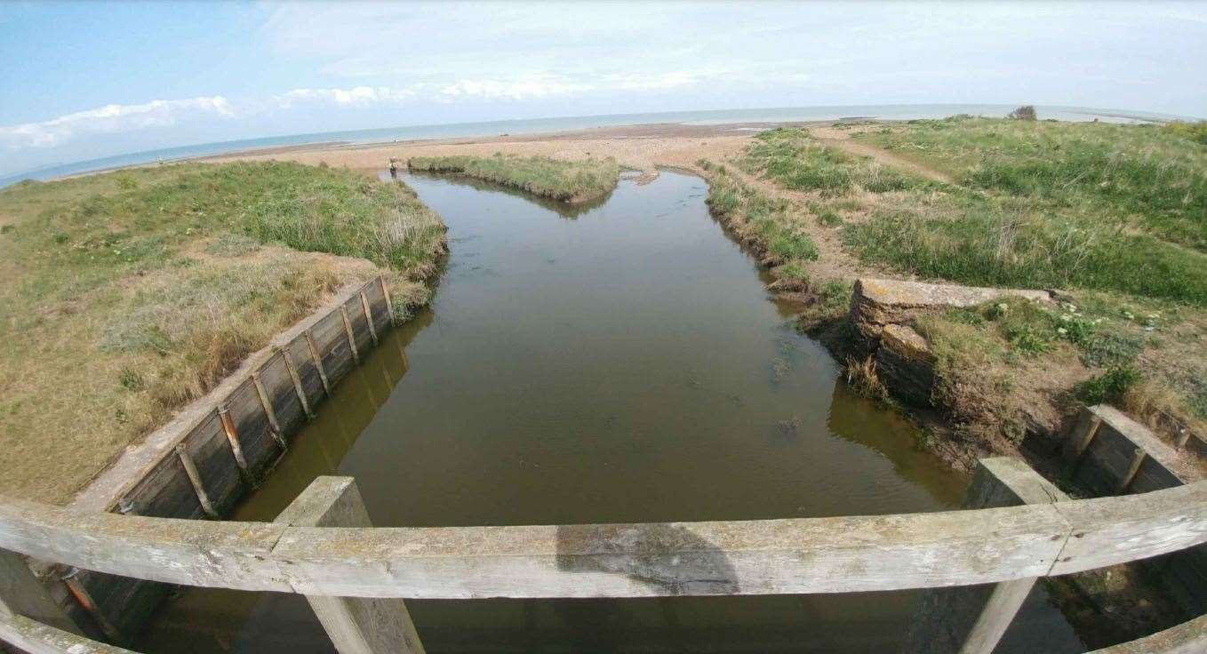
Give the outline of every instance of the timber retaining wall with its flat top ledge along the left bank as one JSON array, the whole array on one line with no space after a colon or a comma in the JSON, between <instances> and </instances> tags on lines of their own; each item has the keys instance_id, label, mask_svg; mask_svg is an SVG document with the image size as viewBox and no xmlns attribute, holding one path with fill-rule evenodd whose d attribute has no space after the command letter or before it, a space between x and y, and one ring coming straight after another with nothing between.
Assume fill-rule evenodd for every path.
<instances>
[{"instance_id":1,"label":"timber retaining wall with its flat top ledge along the left bank","mask_svg":"<svg viewBox=\"0 0 1207 654\"><path fill-rule=\"evenodd\" d=\"M331 389L377 344L392 315L383 278L344 287L128 449L72 507L154 518L229 515L272 471ZM168 584L59 566L49 568L47 583L76 624L116 643L129 642L171 590Z\"/></svg>"}]
</instances>

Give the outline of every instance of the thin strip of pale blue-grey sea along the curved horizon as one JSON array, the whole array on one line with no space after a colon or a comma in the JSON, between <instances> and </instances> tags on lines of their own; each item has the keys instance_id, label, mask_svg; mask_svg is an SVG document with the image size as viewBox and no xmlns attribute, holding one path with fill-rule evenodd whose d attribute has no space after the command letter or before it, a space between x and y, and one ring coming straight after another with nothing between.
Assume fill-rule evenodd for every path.
<instances>
[{"instance_id":1,"label":"thin strip of pale blue-grey sea along the curved horizon","mask_svg":"<svg viewBox=\"0 0 1207 654\"><path fill-rule=\"evenodd\" d=\"M502 134L540 134L590 129L597 127L619 127L634 124L683 123L683 124L728 124L728 123L787 123L801 121L836 121L841 118L879 118L879 119L915 119L943 118L957 113L973 116L1003 117L1016 105L835 105L835 106L797 106L771 109L729 109L711 111L666 111L657 113L611 113L602 116L562 116L555 118L526 118L515 121L488 121L478 123L447 123L408 127L387 127L377 129L355 129L346 132L317 132L313 134L290 134L284 136L266 136L261 139L243 139L211 144L183 145L116 154L99 159L56 164L16 175L0 177L0 188L22 180L52 180L80 173L107 170L128 165L154 162L177 162L194 157L243 152L247 150L296 146L308 144L339 142L350 145L391 142L415 139L459 139L468 136L497 136ZM1107 121L1107 122L1168 122L1173 119L1194 119L1166 113L1148 113L1109 109L1090 109L1075 106L1036 106L1040 119L1057 121Z\"/></svg>"}]
</instances>

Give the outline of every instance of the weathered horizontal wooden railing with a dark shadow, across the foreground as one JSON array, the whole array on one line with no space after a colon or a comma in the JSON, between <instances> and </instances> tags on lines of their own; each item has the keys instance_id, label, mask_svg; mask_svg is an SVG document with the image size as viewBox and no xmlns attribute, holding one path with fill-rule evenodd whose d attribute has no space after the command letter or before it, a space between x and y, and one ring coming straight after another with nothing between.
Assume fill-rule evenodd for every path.
<instances>
[{"instance_id":1,"label":"weathered horizontal wooden railing with a dark shadow, across the foreground","mask_svg":"<svg viewBox=\"0 0 1207 654\"><path fill-rule=\"evenodd\" d=\"M366 612L373 614L377 631L381 617L392 615L402 633L397 638L414 641L412 650L420 652L401 601L352 598L853 592L1068 574L1207 542L1207 483L1133 496L900 515L367 525L349 478L320 478L276 522L77 513L21 500L0 502L2 549L171 584L299 592L310 598L342 652L385 650L380 643L366 644L365 632L372 631L363 627ZM0 591L0 609L10 606L0 636L16 642L17 630L28 646L35 637L29 621L11 614L25 613L12 607L29 602L2 596L6 592L13 591ZM1007 621L1010 617L1013 612ZM339 636L334 631L340 629L360 630L360 636ZM65 650L52 641L45 638L49 644L39 650ZM361 644L346 644L354 641ZM397 642L389 647L403 649ZM980 650L993 644L996 640Z\"/></svg>"}]
</instances>

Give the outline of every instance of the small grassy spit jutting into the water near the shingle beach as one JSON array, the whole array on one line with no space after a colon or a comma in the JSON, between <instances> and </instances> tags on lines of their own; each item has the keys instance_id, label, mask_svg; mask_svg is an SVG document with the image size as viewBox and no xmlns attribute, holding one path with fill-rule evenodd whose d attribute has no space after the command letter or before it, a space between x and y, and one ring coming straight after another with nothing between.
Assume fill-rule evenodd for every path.
<instances>
[{"instance_id":1,"label":"small grassy spit jutting into the water near the shingle beach","mask_svg":"<svg viewBox=\"0 0 1207 654\"><path fill-rule=\"evenodd\" d=\"M620 167L611 157L564 162L546 157L412 157L412 170L455 173L519 188L543 198L567 203L589 203L616 188Z\"/></svg>"}]
</instances>

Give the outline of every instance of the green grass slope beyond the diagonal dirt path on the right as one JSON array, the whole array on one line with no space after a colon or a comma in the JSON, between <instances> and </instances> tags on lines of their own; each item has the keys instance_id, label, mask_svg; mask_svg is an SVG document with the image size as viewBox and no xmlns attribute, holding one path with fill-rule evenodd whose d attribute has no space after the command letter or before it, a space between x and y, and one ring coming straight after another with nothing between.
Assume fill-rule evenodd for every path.
<instances>
[{"instance_id":1,"label":"green grass slope beyond the diagonal dirt path on the right","mask_svg":"<svg viewBox=\"0 0 1207 654\"><path fill-rule=\"evenodd\" d=\"M1207 148L1166 129L947 118L859 138L969 188L1207 251Z\"/></svg>"}]
</instances>

